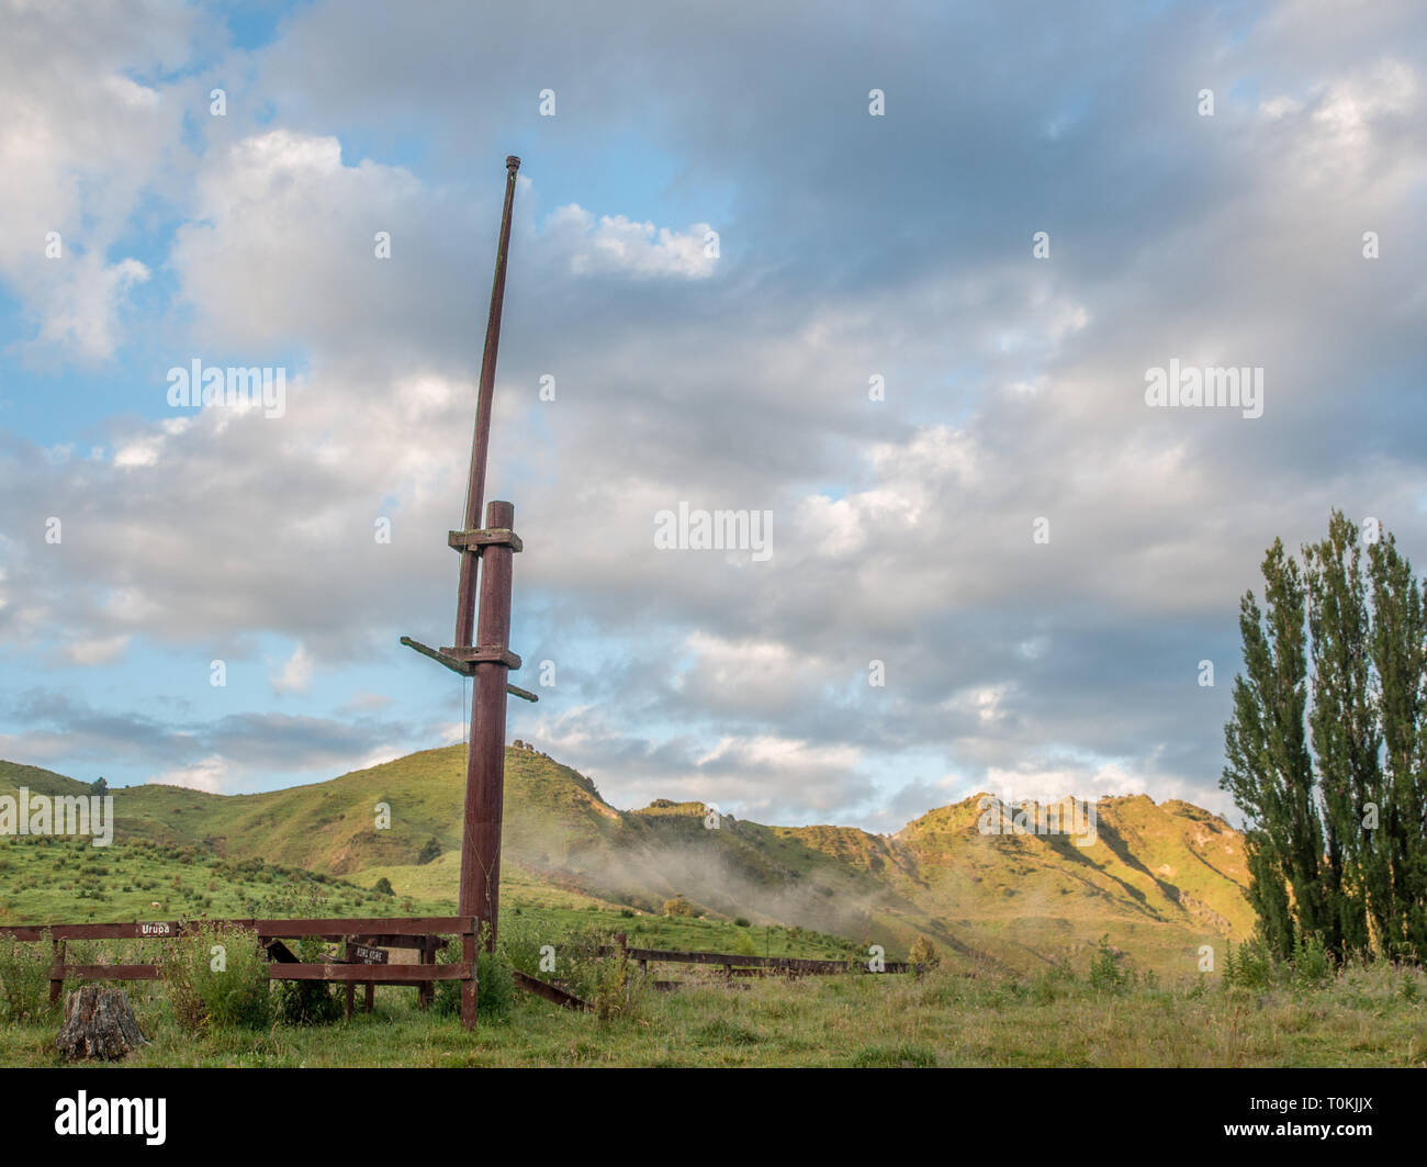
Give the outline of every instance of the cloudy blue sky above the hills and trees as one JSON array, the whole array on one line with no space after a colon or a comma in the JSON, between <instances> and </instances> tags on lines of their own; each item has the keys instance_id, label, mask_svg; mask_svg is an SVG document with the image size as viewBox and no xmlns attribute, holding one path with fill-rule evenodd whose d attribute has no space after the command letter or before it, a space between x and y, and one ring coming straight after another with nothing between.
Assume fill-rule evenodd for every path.
<instances>
[{"instance_id":1,"label":"cloudy blue sky above the hills and trees","mask_svg":"<svg viewBox=\"0 0 1427 1167\"><path fill-rule=\"evenodd\" d=\"M450 639L515 153L511 738L769 822L1227 810L1263 549L1341 506L1427 558L1427 19L1330 9L0 6L0 756L244 792L461 740L398 638ZM173 408L193 360L283 415ZM1149 408L1170 360L1263 417ZM679 502L772 556L658 551Z\"/></svg>"}]
</instances>

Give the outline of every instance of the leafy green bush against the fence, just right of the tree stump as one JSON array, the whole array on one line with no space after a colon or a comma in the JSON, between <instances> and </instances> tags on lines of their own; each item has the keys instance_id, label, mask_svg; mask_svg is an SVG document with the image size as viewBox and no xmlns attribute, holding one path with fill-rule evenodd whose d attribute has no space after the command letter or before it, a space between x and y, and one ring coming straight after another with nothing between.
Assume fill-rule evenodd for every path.
<instances>
[{"instance_id":1,"label":"leafy green bush against the fence, just right of the tree stump","mask_svg":"<svg viewBox=\"0 0 1427 1167\"><path fill-rule=\"evenodd\" d=\"M273 1019L267 953L254 932L204 924L166 942L157 963L174 1017L188 1033L264 1029Z\"/></svg>"}]
</instances>

